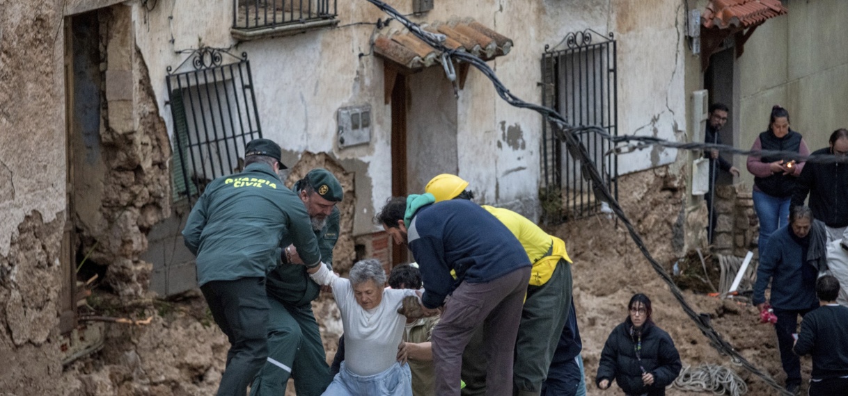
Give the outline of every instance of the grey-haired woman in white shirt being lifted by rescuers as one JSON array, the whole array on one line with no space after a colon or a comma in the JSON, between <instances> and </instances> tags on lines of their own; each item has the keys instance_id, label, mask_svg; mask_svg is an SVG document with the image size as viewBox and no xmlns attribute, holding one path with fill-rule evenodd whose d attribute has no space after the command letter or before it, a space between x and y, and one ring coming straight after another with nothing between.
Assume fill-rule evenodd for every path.
<instances>
[{"instance_id":1,"label":"grey-haired woman in white shirt being lifted by rescuers","mask_svg":"<svg viewBox=\"0 0 848 396\"><path fill-rule=\"evenodd\" d=\"M344 361L324 394L411 396L410 366L401 349L406 317L398 308L416 290L385 289L386 272L375 259L354 264L349 279L326 266L308 271L315 283L332 286L344 326Z\"/></svg>"}]
</instances>

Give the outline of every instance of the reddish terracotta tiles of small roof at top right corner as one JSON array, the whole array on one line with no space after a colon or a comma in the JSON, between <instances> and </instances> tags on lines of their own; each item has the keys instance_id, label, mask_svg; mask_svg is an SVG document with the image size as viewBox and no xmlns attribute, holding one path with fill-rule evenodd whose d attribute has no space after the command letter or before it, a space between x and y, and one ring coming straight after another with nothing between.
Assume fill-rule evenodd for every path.
<instances>
[{"instance_id":1,"label":"reddish terracotta tiles of small roof at top right corner","mask_svg":"<svg viewBox=\"0 0 848 396\"><path fill-rule=\"evenodd\" d=\"M780 0L711 0L700 19L706 28L746 28L787 12Z\"/></svg>"}]
</instances>

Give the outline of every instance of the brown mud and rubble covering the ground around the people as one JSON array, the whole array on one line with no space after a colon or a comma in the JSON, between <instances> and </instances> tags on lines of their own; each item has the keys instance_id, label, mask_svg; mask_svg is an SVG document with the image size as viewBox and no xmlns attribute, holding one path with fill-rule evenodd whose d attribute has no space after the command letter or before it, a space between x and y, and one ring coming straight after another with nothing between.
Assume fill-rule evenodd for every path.
<instances>
[{"instance_id":1,"label":"brown mud and rubble covering the ground around the people","mask_svg":"<svg viewBox=\"0 0 848 396\"><path fill-rule=\"evenodd\" d=\"M629 175L620 184L622 206L650 252L667 267L685 254L679 243L681 194L678 180L662 170ZM628 237L622 222L599 215L556 225L549 232L566 241L574 261L574 298L590 395L623 394L615 384L605 392L595 388L594 375L606 337L627 315L630 296L639 292L653 300L654 319L672 335L684 365L727 366L745 379L747 394L777 394L709 345ZM672 242L676 237L678 241ZM773 328L759 324L755 308L689 290L684 295L695 311L711 316L718 332L741 355L783 383ZM313 306L329 361L342 331L338 309L330 294L322 295ZM229 344L212 322L199 293L150 303L127 314L153 315L153 322L144 327L109 325L103 349L65 367L64 382L45 388L44 394L177 396L215 392ZM802 360L802 366L808 378L809 359ZM289 388L287 395L293 394ZM671 388L667 394L710 393Z\"/></svg>"}]
</instances>

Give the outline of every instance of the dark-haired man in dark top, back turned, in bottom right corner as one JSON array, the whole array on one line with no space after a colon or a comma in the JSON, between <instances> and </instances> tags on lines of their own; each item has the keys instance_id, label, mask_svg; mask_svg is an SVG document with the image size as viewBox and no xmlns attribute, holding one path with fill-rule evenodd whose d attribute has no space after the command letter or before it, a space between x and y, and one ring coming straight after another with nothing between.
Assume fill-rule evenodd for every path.
<instances>
[{"instance_id":1,"label":"dark-haired man in dark top, back turned, in bottom right corner","mask_svg":"<svg viewBox=\"0 0 848 396\"><path fill-rule=\"evenodd\" d=\"M810 396L848 394L848 308L836 304L840 281L825 275L816 282L820 307L804 316L798 341L799 356L812 355Z\"/></svg>"}]
</instances>

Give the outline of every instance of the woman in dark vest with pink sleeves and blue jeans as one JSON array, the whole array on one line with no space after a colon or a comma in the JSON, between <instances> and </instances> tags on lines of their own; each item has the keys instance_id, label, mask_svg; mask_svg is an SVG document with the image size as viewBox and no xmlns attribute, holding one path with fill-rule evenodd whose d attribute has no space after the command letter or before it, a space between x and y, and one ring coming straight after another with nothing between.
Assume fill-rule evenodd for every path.
<instances>
[{"instance_id":1,"label":"woman in dark vest with pink sleeves and blue jeans","mask_svg":"<svg viewBox=\"0 0 848 396\"><path fill-rule=\"evenodd\" d=\"M802 156L810 155L801 134L789 129L789 112L780 106L772 107L768 130L754 140L750 149L795 151ZM754 210L760 220L760 241L757 245L760 255L766 248L769 235L789 223L789 203L802 168L804 162L786 158L748 157L748 172L754 174Z\"/></svg>"}]
</instances>

